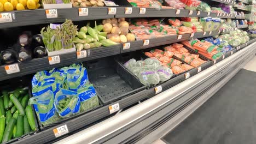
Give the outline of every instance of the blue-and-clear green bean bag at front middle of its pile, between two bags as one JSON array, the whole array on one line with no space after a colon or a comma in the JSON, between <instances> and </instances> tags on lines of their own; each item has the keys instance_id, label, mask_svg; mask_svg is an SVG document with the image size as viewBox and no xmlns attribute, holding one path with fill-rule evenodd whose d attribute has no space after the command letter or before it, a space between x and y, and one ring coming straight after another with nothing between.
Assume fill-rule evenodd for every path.
<instances>
[{"instance_id":1,"label":"blue-and-clear green bean bag at front middle of its pile, between two bags","mask_svg":"<svg viewBox=\"0 0 256 144\"><path fill-rule=\"evenodd\" d=\"M54 105L62 118L75 115L80 109L80 101L77 92L60 89L60 91L56 93Z\"/></svg>"}]
</instances>

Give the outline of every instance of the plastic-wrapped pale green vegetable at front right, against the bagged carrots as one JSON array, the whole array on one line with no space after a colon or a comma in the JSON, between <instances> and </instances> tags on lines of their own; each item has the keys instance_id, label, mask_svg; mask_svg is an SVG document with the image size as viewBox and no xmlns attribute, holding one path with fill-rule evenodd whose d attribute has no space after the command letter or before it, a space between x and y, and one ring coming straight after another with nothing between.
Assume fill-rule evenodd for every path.
<instances>
[{"instance_id":1,"label":"plastic-wrapped pale green vegetable at front right, against the bagged carrots","mask_svg":"<svg viewBox=\"0 0 256 144\"><path fill-rule=\"evenodd\" d=\"M161 82L171 79L173 73L170 68L160 66L156 69L156 73L158 73Z\"/></svg>"}]
</instances>

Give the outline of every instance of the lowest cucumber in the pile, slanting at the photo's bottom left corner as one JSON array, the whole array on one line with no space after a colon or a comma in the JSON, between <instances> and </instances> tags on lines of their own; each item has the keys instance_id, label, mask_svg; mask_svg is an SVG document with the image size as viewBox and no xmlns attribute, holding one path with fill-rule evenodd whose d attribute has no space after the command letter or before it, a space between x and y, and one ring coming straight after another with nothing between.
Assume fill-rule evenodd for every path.
<instances>
[{"instance_id":1,"label":"lowest cucumber in the pile, slanting at the photo's bottom left corner","mask_svg":"<svg viewBox=\"0 0 256 144\"><path fill-rule=\"evenodd\" d=\"M13 135L13 129L16 124L15 118L10 118L8 124L6 125L6 128L4 130L2 143L7 142L11 139L11 136Z\"/></svg>"}]
</instances>

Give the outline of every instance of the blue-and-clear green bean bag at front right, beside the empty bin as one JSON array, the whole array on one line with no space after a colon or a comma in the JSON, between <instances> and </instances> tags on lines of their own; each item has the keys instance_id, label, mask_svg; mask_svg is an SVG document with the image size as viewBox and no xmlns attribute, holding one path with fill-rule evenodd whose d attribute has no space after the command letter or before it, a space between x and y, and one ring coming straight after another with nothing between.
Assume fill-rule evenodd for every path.
<instances>
[{"instance_id":1,"label":"blue-and-clear green bean bag at front right, beside the empty bin","mask_svg":"<svg viewBox=\"0 0 256 144\"><path fill-rule=\"evenodd\" d=\"M80 99L80 111L89 111L99 105L95 88L91 85L78 89Z\"/></svg>"}]
</instances>

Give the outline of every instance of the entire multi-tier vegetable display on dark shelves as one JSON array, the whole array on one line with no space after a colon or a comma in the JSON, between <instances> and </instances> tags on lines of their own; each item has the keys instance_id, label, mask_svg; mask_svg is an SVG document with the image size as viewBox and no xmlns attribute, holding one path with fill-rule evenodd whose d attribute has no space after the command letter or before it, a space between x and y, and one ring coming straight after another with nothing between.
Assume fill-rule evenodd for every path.
<instances>
[{"instance_id":1,"label":"entire multi-tier vegetable display on dark shelves","mask_svg":"<svg viewBox=\"0 0 256 144\"><path fill-rule=\"evenodd\" d=\"M13 77L30 81L26 88L0 87L0 142L62 139L153 97L159 93L155 87L177 85L222 61L235 47L253 43L255 30L240 26L252 25L255 15L224 3L0 0L5 25L0 31L1 84ZM32 10L41 5L46 10ZM176 15L154 15L173 11ZM63 127L68 130L58 132ZM49 139L41 141L44 137Z\"/></svg>"}]
</instances>

